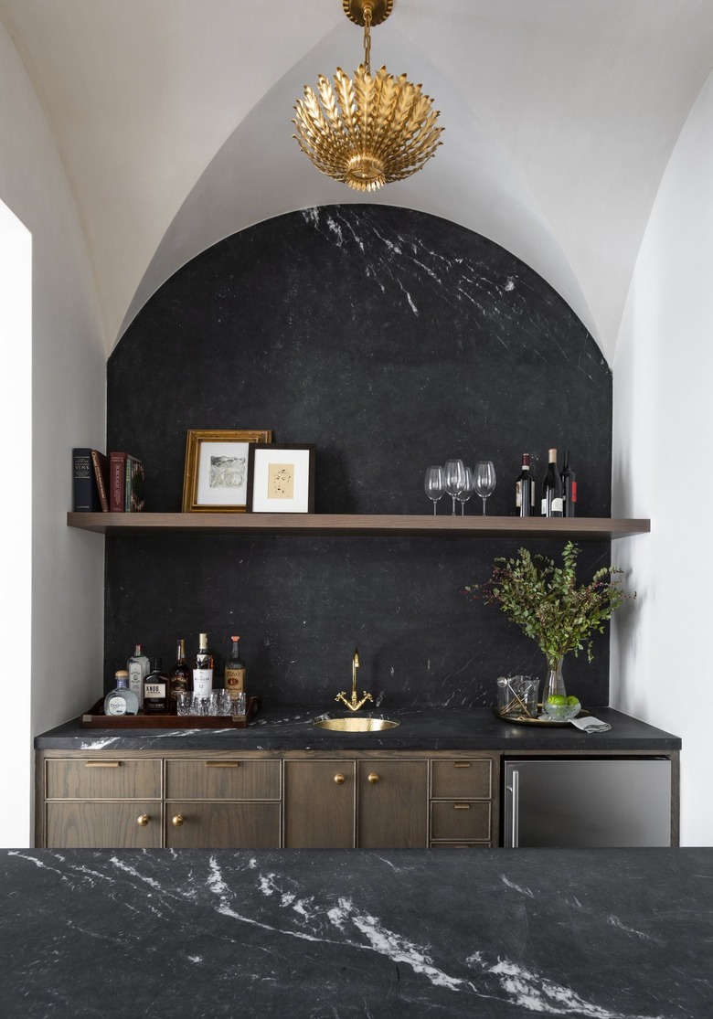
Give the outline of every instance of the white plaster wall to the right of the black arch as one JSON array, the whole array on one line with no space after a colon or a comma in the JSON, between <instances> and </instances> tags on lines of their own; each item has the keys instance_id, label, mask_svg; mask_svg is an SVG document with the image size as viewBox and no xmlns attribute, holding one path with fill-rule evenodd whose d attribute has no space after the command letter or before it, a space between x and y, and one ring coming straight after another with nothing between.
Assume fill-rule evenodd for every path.
<instances>
[{"instance_id":1,"label":"white plaster wall to the right of the black arch","mask_svg":"<svg viewBox=\"0 0 713 1019\"><path fill-rule=\"evenodd\" d=\"M641 248L614 372L613 516L639 596L612 629L612 704L682 739L681 845L713 846L713 77L683 126Z\"/></svg>"}]
</instances>

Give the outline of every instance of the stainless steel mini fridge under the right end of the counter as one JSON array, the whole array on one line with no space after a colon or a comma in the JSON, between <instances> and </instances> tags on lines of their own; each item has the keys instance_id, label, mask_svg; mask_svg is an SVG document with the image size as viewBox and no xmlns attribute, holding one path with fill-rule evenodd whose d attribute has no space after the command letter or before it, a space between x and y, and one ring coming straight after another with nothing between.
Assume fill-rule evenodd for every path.
<instances>
[{"instance_id":1,"label":"stainless steel mini fridge under the right end of the counter","mask_svg":"<svg viewBox=\"0 0 713 1019\"><path fill-rule=\"evenodd\" d=\"M667 758L509 760L503 842L528 846L670 846Z\"/></svg>"}]
</instances>

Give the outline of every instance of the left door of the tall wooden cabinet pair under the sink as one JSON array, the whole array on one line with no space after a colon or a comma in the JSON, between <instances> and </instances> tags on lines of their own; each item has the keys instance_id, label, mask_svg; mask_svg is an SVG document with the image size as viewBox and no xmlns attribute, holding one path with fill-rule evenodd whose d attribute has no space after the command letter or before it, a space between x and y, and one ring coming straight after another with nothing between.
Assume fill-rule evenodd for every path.
<instances>
[{"instance_id":1,"label":"left door of the tall wooden cabinet pair under the sink","mask_svg":"<svg viewBox=\"0 0 713 1019\"><path fill-rule=\"evenodd\" d=\"M354 761L285 761L287 849L352 849Z\"/></svg>"}]
</instances>

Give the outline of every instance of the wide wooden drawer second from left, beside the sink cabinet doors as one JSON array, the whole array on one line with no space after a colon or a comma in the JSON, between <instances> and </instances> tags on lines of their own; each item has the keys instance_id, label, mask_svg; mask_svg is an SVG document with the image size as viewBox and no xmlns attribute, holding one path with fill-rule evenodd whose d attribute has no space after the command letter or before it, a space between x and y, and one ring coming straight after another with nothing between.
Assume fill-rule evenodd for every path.
<instances>
[{"instance_id":1,"label":"wide wooden drawer second from left, beside the sink cabinet doors","mask_svg":"<svg viewBox=\"0 0 713 1019\"><path fill-rule=\"evenodd\" d=\"M280 762L244 757L166 761L166 797L279 800Z\"/></svg>"}]
</instances>

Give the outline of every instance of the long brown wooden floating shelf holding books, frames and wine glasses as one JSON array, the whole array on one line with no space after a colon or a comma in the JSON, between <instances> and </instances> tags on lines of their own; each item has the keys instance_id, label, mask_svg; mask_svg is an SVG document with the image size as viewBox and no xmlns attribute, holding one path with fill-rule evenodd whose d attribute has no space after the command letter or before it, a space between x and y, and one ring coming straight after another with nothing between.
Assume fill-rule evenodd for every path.
<instances>
[{"instance_id":1,"label":"long brown wooden floating shelf holding books, frames and wine glasses","mask_svg":"<svg viewBox=\"0 0 713 1019\"><path fill-rule=\"evenodd\" d=\"M96 534L365 534L377 537L571 538L596 541L648 534L649 520L607 517L408 517L387 514L68 513L68 527Z\"/></svg>"}]
</instances>

